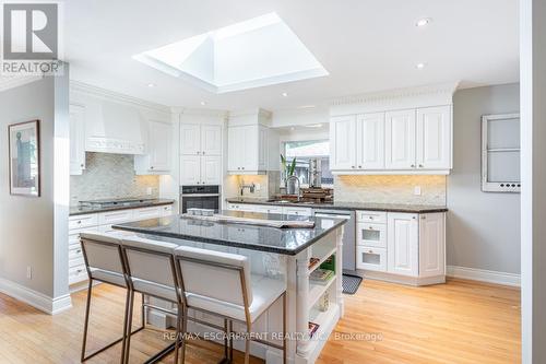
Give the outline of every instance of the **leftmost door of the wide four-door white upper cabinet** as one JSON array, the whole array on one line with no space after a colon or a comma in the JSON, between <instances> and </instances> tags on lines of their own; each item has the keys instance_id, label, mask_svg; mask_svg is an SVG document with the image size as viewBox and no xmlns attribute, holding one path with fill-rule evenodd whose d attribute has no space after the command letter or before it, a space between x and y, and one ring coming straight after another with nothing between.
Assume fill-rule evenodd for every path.
<instances>
[{"instance_id":1,"label":"leftmost door of the wide four-door white upper cabinet","mask_svg":"<svg viewBox=\"0 0 546 364\"><path fill-rule=\"evenodd\" d=\"M333 117L330 122L330 169L356 168L356 116Z\"/></svg>"}]
</instances>

